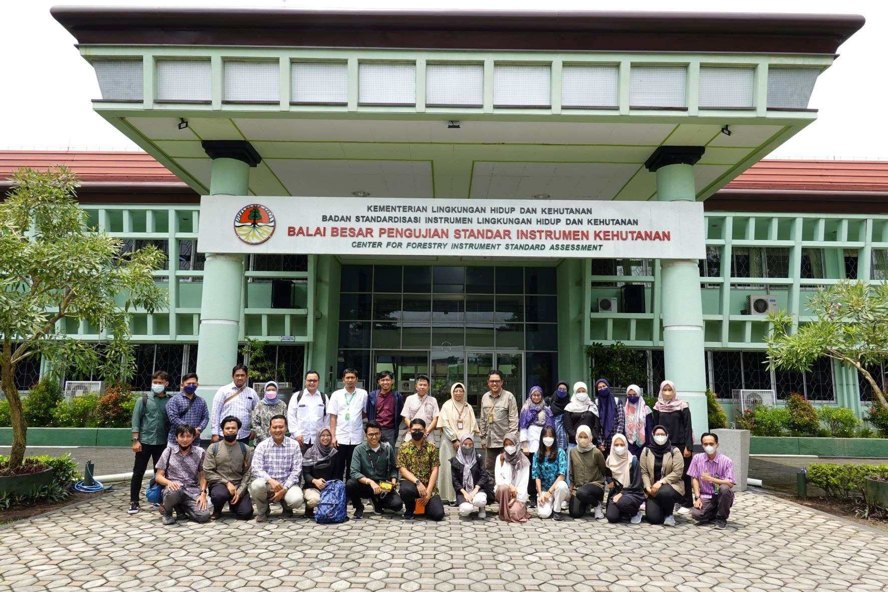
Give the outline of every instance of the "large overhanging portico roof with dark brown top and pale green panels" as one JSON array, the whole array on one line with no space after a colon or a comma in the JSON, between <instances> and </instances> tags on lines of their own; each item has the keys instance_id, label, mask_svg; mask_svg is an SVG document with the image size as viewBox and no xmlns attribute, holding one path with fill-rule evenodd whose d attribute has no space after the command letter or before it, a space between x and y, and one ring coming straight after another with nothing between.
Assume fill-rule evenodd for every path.
<instances>
[{"instance_id":1,"label":"large overhanging portico roof with dark brown top and pale green panels","mask_svg":"<svg viewBox=\"0 0 888 592\"><path fill-rule=\"evenodd\" d=\"M657 146L706 199L813 122L861 17L55 8L95 109L199 193L246 139L255 194L651 200ZM449 123L448 122L456 122ZM725 126L727 128L725 129ZM722 130L725 130L724 132Z\"/></svg>"}]
</instances>

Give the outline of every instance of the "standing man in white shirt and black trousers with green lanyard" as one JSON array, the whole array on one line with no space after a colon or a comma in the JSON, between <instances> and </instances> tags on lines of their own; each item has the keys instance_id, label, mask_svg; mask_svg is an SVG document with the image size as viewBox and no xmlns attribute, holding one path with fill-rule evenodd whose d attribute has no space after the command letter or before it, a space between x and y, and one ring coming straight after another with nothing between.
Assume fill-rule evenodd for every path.
<instances>
[{"instance_id":1,"label":"standing man in white shirt and black trousers with green lanyard","mask_svg":"<svg viewBox=\"0 0 888 592\"><path fill-rule=\"evenodd\" d=\"M337 466L335 475L343 478L345 471L352 466L354 449L364 441L364 417L367 415L367 391L355 386L358 383L358 371L345 368L342 373L345 389L339 389L330 395L327 412L330 418L330 432L333 434L333 446L337 448Z\"/></svg>"}]
</instances>

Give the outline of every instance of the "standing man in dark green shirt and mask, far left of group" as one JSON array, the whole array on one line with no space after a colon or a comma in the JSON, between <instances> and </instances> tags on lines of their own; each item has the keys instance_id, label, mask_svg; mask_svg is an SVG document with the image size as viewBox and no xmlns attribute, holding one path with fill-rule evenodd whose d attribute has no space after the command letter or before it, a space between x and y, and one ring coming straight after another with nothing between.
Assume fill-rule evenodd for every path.
<instances>
[{"instance_id":1,"label":"standing man in dark green shirt and mask, far left of group","mask_svg":"<svg viewBox=\"0 0 888 592\"><path fill-rule=\"evenodd\" d=\"M132 408L132 452L136 454L130 479L129 514L139 511L139 489L148 468L148 461L156 464L167 446L167 432L170 420L167 417L166 390L170 386L170 375L158 370L151 377L151 392L136 400Z\"/></svg>"}]
</instances>

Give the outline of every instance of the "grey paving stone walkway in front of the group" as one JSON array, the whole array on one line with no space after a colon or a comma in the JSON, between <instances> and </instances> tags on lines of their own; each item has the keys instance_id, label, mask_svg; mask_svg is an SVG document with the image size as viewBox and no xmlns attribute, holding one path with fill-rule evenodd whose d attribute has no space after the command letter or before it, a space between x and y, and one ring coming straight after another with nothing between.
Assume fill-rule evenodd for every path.
<instances>
[{"instance_id":1,"label":"grey paving stone walkway in front of the group","mask_svg":"<svg viewBox=\"0 0 888 592\"><path fill-rule=\"evenodd\" d=\"M888 537L764 493L725 531L591 517L163 526L126 492L0 529L0 590L885 590ZM369 507L368 507L369 509ZM277 509L275 508L275 512Z\"/></svg>"}]
</instances>

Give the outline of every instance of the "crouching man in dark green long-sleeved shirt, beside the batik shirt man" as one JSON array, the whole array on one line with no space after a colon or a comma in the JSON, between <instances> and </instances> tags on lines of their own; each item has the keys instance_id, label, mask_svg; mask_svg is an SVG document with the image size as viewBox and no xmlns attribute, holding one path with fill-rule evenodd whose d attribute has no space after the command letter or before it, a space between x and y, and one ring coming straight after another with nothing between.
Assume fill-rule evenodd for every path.
<instances>
[{"instance_id":1,"label":"crouching man in dark green long-sleeved shirt, beside the batik shirt man","mask_svg":"<svg viewBox=\"0 0 888 592\"><path fill-rule=\"evenodd\" d=\"M404 505L395 492L398 468L394 462L394 447L388 442L380 442L383 431L377 422L368 422L364 433L367 439L355 446L349 469L350 479L345 483L345 492L354 507L355 520L364 516L363 497L373 502L375 514L382 514L383 509L397 512ZM392 488L386 491L380 484L392 485Z\"/></svg>"}]
</instances>

